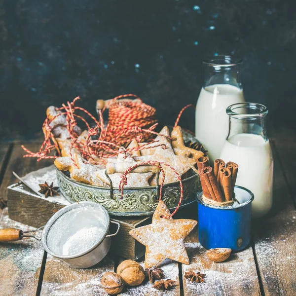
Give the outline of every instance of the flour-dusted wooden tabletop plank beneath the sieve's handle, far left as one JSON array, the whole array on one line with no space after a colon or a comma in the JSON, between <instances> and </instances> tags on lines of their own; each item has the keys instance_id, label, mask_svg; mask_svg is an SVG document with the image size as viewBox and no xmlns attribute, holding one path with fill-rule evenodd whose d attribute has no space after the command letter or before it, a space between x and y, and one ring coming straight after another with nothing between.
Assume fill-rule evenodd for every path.
<instances>
[{"instance_id":1,"label":"flour-dusted wooden tabletop plank beneath the sieve's handle, far left","mask_svg":"<svg viewBox=\"0 0 296 296\"><path fill-rule=\"evenodd\" d=\"M33 229L10 220L7 208L0 216L0 228ZM40 232L37 235L40 236ZM0 243L0 295L36 295L43 253L41 242L34 238Z\"/></svg>"}]
</instances>

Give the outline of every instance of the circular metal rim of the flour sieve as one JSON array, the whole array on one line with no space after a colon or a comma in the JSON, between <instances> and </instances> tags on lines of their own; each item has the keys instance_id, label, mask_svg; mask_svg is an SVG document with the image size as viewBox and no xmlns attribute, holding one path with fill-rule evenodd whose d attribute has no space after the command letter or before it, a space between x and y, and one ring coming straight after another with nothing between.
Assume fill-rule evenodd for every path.
<instances>
[{"instance_id":1,"label":"circular metal rim of the flour sieve","mask_svg":"<svg viewBox=\"0 0 296 296\"><path fill-rule=\"evenodd\" d=\"M104 214L106 215L106 218L107 218L107 223L106 223L104 233L102 234L100 239L92 247L85 250L84 252L81 252L81 253L78 253L78 254L75 254L75 255L71 255L71 256L54 254L51 250L49 250L49 248L47 247L47 243L46 243L46 238L47 238L47 234L48 234L48 231L49 231L50 227L53 225L54 222L56 222L65 213L67 213L67 212L69 212L71 210L74 210L74 209L78 209L78 208L80 208L82 206L92 206L92 207L98 208L98 209L100 209L100 210L102 210L104 212ZM56 257L56 258L59 258L59 259L78 258L78 257L84 256L84 255L90 253L95 248L97 248L102 243L102 241L105 239L105 237L106 237L106 235L107 235L107 233L109 231L109 227L110 227L110 217L109 217L109 214L108 214L107 210L103 206L101 206L100 204L91 202L91 201L81 201L79 203L78 202L73 203L73 204L71 204L69 206L66 206L66 207L62 208L61 210L59 210L57 213L55 213L48 220L48 222L44 226L44 229L43 229L43 232L42 232L42 245L43 245L44 250L53 257Z\"/></svg>"}]
</instances>

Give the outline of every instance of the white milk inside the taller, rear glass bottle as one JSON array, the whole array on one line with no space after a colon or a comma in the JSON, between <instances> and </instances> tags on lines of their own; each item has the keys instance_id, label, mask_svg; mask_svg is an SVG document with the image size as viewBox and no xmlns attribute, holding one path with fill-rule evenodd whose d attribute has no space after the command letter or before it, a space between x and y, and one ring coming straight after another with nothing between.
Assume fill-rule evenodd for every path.
<instances>
[{"instance_id":1,"label":"white milk inside the taller, rear glass bottle","mask_svg":"<svg viewBox=\"0 0 296 296\"><path fill-rule=\"evenodd\" d=\"M228 134L228 106L245 102L243 90L230 84L203 87L195 111L195 136L213 162L219 158Z\"/></svg>"}]
</instances>

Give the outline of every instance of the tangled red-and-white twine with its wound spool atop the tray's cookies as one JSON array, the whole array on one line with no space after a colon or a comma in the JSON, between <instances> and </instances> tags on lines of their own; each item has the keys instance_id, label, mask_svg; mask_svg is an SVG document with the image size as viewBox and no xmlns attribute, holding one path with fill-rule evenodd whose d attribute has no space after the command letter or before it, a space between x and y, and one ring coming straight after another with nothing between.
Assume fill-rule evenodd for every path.
<instances>
[{"instance_id":1,"label":"tangled red-and-white twine with its wound spool atop the tray's cookies","mask_svg":"<svg viewBox=\"0 0 296 296\"><path fill-rule=\"evenodd\" d=\"M120 99L131 97L137 98L138 102L120 101ZM39 161L41 159L56 158L60 156L48 155L52 150L56 149L59 151L59 147L52 133L53 129L57 125L51 126L51 123L58 116L64 115L66 116L67 122L64 127L67 128L70 134L70 139L72 140L70 145L70 157L73 162L73 148L81 152L82 157L85 158L88 163L106 164L106 161L101 159L103 156L116 156L119 153L119 148L127 145L133 139L136 139L137 142L148 142L148 145L126 149L126 153L163 146L161 144L157 144L157 141L153 140L153 135L158 135L158 133L154 131L157 125L155 119L155 109L144 104L136 95L121 95L111 100L111 103L113 104L110 105L109 122L106 127L104 125L103 112L106 110L107 106L105 106L103 110L99 110L99 120L97 120L85 109L74 106L78 99L79 97L76 97L72 103L67 102L67 105L63 104L63 107L57 109L57 111L61 111L61 113L53 116L51 119L49 119L49 117L45 119L42 125L42 129L44 131L44 142L38 152L32 152L22 146L22 148L28 153L24 155L24 157L37 157L37 161ZM189 106L190 105L187 105L181 110L175 126L178 124L183 111ZM75 111L84 112L94 122L95 127L91 128L86 119L76 114ZM77 119L81 120L88 129L88 136L84 143L77 140L78 135L74 130L77 125ZM97 134L99 134L98 140L93 141L91 137L96 136ZM97 161L94 160L94 156L96 156ZM75 162L74 165L76 165Z\"/></svg>"}]
</instances>

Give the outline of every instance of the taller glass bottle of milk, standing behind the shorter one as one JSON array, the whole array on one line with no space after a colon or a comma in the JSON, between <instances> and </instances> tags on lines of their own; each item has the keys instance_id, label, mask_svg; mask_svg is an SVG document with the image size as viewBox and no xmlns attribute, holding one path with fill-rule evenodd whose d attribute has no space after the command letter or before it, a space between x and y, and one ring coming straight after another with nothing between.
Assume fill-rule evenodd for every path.
<instances>
[{"instance_id":1,"label":"taller glass bottle of milk, standing behind the shorter one","mask_svg":"<svg viewBox=\"0 0 296 296\"><path fill-rule=\"evenodd\" d=\"M219 158L228 133L226 108L245 102L239 74L241 63L225 55L203 62L205 81L196 105L195 137L208 150L212 164Z\"/></svg>"}]
</instances>

